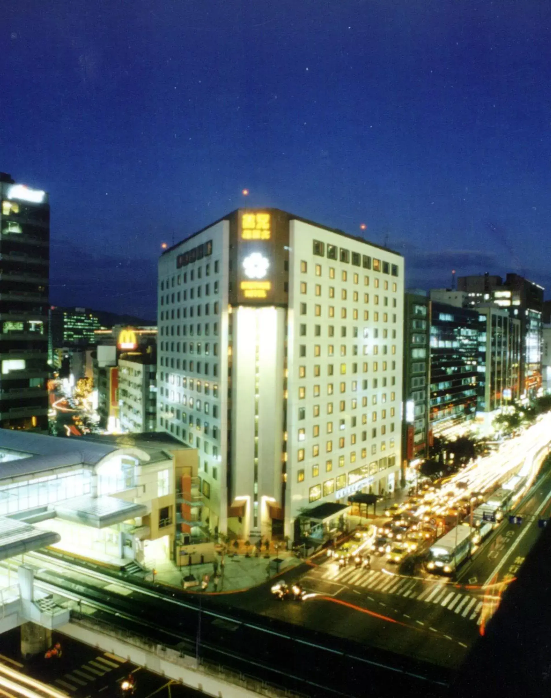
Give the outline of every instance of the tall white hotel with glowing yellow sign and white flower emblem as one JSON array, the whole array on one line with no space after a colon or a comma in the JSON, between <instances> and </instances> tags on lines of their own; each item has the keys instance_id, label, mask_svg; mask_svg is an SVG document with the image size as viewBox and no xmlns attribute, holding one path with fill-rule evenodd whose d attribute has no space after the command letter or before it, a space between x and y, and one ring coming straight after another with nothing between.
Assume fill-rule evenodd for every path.
<instances>
[{"instance_id":1,"label":"tall white hotel with glowing yellow sign and white flower emblem","mask_svg":"<svg viewBox=\"0 0 551 698\"><path fill-rule=\"evenodd\" d=\"M161 431L196 447L203 521L240 537L399 482L404 259L238 209L159 260Z\"/></svg>"}]
</instances>

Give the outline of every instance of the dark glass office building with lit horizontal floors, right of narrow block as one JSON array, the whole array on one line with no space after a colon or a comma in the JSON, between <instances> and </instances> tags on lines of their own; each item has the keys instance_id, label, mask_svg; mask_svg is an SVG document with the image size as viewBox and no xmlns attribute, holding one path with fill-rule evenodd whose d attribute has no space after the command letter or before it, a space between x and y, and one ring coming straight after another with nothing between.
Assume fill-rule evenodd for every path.
<instances>
[{"instance_id":1,"label":"dark glass office building with lit horizontal floors, right of narrow block","mask_svg":"<svg viewBox=\"0 0 551 698\"><path fill-rule=\"evenodd\" d=\"M435 435L476 416L484 329L478 310L431 302L429 407Z\"/></svg>"}]
</instances>

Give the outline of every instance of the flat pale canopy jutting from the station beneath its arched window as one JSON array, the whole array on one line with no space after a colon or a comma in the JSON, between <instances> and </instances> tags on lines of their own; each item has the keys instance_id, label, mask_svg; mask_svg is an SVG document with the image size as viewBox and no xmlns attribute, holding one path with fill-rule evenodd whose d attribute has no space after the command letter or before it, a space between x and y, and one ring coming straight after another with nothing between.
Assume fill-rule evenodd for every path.
<instances>
[{"instance_id":1,"label":"flat pale canopy jutting from the station beneath its arched window","mask_svg":"<svg viewBox=\"0 0 551 698\"><path fill-rule=\"evenodd\" d=\"M82 523L92 528L107 528L114 523L143 517L147 507L143 504L125 502L117 497L77 497L55 505L58 519Z\"/></svg>"}]
</instances>

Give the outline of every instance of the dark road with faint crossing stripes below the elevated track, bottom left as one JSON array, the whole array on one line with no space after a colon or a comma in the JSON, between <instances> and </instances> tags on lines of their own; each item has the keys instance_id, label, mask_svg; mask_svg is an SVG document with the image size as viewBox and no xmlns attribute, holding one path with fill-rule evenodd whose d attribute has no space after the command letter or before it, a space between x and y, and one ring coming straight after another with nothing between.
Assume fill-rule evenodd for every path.
<instances>
[{"instance_id":1,"label":"dark road with faint crossing stripes below the elevated track, bottom left","mask_svg":"<svg viewBox=\"0 0 551 698\"><path fill-rule=\"evenodd\" d=\"M133 676L133 698L195 698L203 695L182 684L170 682L124 658L104 653L62 634L55 633L52 643L61 644L61 658L46 660L43 655L23 660L20 653L20 630L16 628L0 635L0 662L6 666L43 681L75 698L118 698L124 696L121 682ZM170 684L170 692L169 692Z\"/></svg>"}]
</instances>

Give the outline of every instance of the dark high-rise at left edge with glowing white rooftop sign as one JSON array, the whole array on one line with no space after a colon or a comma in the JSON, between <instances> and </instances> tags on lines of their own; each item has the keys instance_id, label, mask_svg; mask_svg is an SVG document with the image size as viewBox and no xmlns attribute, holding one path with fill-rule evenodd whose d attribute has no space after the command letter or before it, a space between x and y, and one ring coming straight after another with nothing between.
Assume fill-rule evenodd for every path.
<instances>
[{"instance_id":1,"label":"dark high-rise at left edge with glowing white rooftop sign","mask_svg":"<svg viewBox=\"0 0 551 698\"><path fill-rule=\"evenodd\" d=\"M0 427L47 431L50 204L0 173Z\"/></svg>"}]
</instances>

